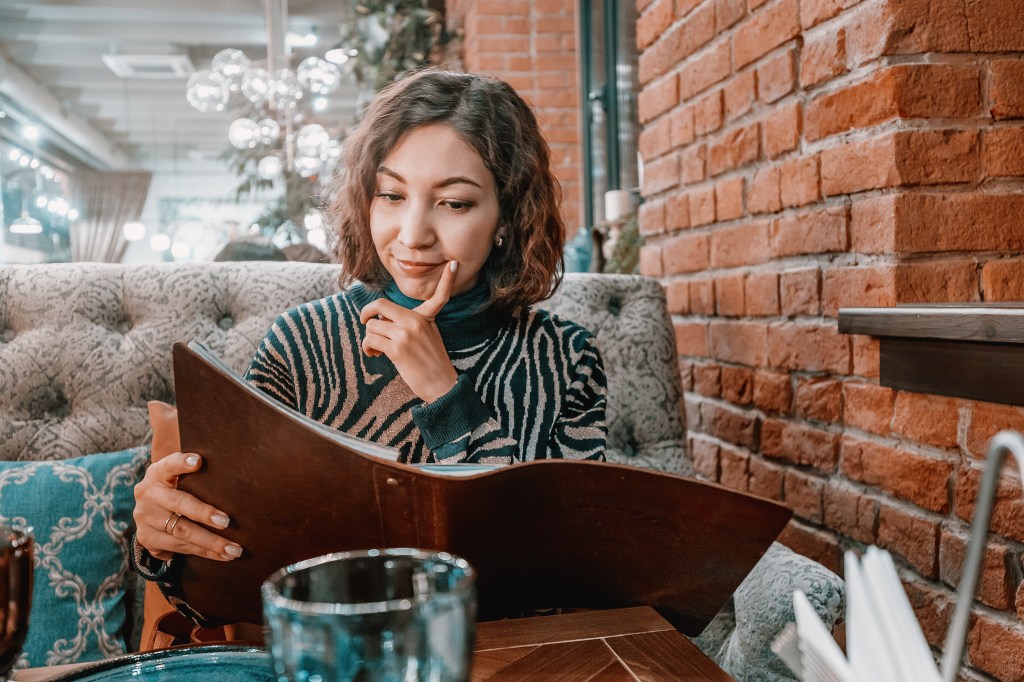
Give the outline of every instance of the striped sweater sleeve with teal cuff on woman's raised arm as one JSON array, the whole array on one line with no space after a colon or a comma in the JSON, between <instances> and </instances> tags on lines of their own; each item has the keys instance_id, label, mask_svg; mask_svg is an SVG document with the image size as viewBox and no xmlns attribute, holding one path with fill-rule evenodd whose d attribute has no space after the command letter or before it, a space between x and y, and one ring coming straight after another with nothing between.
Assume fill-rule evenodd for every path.
<instances>
[{"instance_id":1,"label":"striped sweater sleeve with teal cuff on woman's raised arm","mask_svg":"<svg viewBox=\"0 0 1024 682\"><path fill-rule=\"evenodd\" d=\"M424 443L441 464L512 464L540 459L603 460L605 376L594 337L587 335L543 452L524 453L462 374L451 391L413 408ZM525 399L525 398L524 398ZM534 410L542 410L536 404Z\"/></svg>"}]
</instances>

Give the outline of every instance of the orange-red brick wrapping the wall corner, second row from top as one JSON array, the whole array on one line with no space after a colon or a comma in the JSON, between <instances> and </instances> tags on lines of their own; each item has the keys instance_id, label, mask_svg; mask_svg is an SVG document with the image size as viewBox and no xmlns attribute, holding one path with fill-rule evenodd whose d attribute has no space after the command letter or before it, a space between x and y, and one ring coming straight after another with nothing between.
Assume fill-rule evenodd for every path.
<instances>
[{"instance_id":1,"label":"orange-red brick wrapping the wall corner, second row from top","mask_svg":"<svg viewBox=\"0 0 1024 682\"><path fill-rule=\"evenodd\" d=\"M981 103L976 67L900 65L807 104L809 140L866 128L896 118L955 119L977 116Z\"/></svg>"}]
</instances>

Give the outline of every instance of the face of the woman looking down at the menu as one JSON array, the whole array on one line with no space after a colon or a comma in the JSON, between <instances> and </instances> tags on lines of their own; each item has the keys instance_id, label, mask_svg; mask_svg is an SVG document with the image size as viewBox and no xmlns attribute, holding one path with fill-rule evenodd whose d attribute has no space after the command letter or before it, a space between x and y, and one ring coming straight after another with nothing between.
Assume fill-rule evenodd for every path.
<instances>
[{"instance_id":1,"label":"face of the woman looking down at the menu","mask_svg":"<svg viewBox=\"0 0 1024 682\"><path fill-rule=\"evenodd\" d=\"M473 288L498 228L498 193L483 160L446 125L414 128L377 169L370 233L401 293L430 298L449 261L453 294Z\"/></svg>"}]
</instances>

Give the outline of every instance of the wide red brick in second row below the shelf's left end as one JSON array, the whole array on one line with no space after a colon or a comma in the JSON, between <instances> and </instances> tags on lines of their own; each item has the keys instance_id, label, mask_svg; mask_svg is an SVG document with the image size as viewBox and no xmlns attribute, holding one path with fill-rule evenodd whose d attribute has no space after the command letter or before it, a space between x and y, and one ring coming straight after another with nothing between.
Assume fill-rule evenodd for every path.
<instances>
[{"instance_id":1,"label":"wide red brick in second row below the shelf's left end","mask_svg":"<svg viewBox=\"0 0 1024 682\"><path fill-rule=\"evenodd\" d=\"M934 512L949 510L951 462L851 434L843 436L843 473Z\"/></svg>"}]
</instances>

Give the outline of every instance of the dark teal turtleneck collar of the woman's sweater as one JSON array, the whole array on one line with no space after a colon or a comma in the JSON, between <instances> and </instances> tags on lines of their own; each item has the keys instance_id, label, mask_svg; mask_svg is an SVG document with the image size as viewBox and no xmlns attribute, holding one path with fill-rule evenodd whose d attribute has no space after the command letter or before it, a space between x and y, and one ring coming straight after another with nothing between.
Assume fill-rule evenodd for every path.
<instances>
[{"instance_id":1,"label":"dark teal turtleneck collar of the woman's sweater","mask_svg":"<svg viewBox=\"0 0 1024 682\"><path fill-rule=\"evenodd\" d=\"M360 309L381 296L410 310L423 303L421 299L402 294L394 282L378 291L357 285L349 290L349 295ZM490 287L486 279L481 276L472 289L453 296L444 304L434 318L434 324L449 350L468 348L485 341L507 319L507 314L488 306L489 298Z\"/></svg>"}]
</instances>

